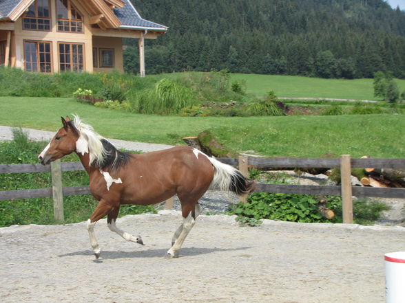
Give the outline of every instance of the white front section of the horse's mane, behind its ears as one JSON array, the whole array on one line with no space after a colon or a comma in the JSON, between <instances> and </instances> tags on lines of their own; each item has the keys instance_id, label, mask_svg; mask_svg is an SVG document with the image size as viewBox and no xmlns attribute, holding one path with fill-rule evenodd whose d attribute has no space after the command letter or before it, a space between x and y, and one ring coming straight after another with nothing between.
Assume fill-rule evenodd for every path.
<instances>
[{"instance_id":1,"label":"white front section of the horse's mane, behind its ears","mask_svg":"<svg viewBox=\"0 0 405 303\"><path fill-rule=\"evenodd\" d=\"M80 137L76 142L77 153L89 153L90 165L101 164L105 156L105 150L101 139L104 139L101 135L98 135L92 126L85 124L81 121L80 117L74 115L74 126L79 131Z\"/></svg>"}]
</instances>

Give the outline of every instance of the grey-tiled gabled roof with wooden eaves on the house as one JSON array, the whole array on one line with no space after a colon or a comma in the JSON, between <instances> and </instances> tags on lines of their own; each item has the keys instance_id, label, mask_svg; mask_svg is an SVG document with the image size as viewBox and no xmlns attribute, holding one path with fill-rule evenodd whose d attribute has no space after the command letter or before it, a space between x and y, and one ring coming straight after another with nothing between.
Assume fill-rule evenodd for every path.
<instances>
[{"instance_id":1,"label":"grey-tiled gabled roof with wooden eaves on the house","mask_svg":"<svg viewBox=\"0 0 405 303\"><path fill-rule=\"evenodd\" d=\"M15 21L34 0L0 0L0 21ZM86 0L81 2L91 15L103 16L102 27L166 32L167 27L143 19L129 0ZM111 10L111 6L114 8Z\"/></svg>"}]
</instances>

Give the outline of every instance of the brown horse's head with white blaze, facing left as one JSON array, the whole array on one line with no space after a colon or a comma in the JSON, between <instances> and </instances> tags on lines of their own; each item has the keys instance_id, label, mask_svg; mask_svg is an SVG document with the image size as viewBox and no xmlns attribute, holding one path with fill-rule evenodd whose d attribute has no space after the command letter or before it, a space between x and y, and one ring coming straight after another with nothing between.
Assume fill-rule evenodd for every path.
<instances>
[{"instance_id":1,"label":"brown horse's head with white blaze, facing left","mask_svg":"<svg viewBox=\"0 0 405 303\"><path fill-rule=\"evenodd\" d=\"M76 150L76 142L80 137L79 131L69 117L66 117L66 119L62 117L62 124L63 127L59 129L48 146L46 146L38 156L39 161L41 161L43 165L61 159L61 157L69 155Z\"/></svg>"}]
</instances>

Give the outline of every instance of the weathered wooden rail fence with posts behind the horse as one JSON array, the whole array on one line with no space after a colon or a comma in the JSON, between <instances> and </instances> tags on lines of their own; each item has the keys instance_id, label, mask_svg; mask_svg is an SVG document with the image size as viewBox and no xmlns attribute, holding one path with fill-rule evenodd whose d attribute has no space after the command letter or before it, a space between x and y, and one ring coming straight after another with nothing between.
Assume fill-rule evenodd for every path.
<instances>
[{"instance_id":1,"label":"weathered wooden rail fence with posts behind the horse","mask_svg":"<svg viewBox=\"0 0 405 303\"><path fill-rule=\"evenodd\" d=\"M248 167L256 168L336 168L340 167L341 186L301 186L287 184L256 183L256 192L280 192L286 194L321 194L342 196L343 223L353 223L353 201L355 197L386 197L405 199L404 188L369 188L351 186L351 168L405 168L405 159L351 159L349 155L340 158L217 158L231 166L238 166L247 175ZM56 220L63 221L63 196L90 194L88 186L62 187L63 171L84 170L80 162L54 161L51 166L41 164L1 164L0 173L51 172L52 188L32 190L0 191L0 200L53 197ZM173 206L173 199L166 202L166 208Z\"/></svg>"}]
</instances>

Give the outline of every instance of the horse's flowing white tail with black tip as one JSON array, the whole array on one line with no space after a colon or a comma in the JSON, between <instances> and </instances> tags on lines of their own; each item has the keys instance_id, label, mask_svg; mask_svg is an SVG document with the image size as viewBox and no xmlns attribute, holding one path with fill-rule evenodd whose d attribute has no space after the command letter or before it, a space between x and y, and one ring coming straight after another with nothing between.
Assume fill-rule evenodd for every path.
<instances>
[{"instance_id":1,"label":"horse's flowing white tail with black tip","mask_svg":"<svg viewBox=\"0 0 405 303\"><path fill-rule=\"evenodd\" d=\"M242 172L230 165L223 164L215 158L208 157L214 166L214 179L211 188L219 188L235 192L236 194L246 194L253 190L253 182L249 181Z\"/></svg>"}]
</instances>

